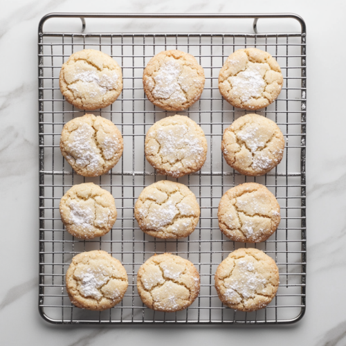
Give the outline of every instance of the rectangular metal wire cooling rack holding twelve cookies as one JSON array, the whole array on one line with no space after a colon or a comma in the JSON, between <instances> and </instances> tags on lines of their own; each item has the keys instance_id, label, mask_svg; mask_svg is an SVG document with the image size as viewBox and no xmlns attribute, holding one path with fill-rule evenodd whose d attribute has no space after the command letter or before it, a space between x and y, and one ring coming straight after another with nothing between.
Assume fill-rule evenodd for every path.
<instances>
[{"instance_id":1,"label":"rectangular metal wire cooling rack holding twelve cookies","mask_svg":"<svg viewBox=\"0 0 346 346\"><path fill-rule=\"evenodd\" d=\"M255 33L47 33L50 18L252 18ZM257 19L291 18L299 21L300 33L257 33ZM230 168L221 154L224 129L244 115L220 95L218 75L230 53L246 47L268 51L284 75L282 91L270 106L257 113L274 120L286 139L284 158L274 170L259 177L246 177ZM39 312L56 324L280 324L300 320L305 310L306 219L306 30L296 15L91 15L50 14L39 23ZM84 48L107 53L122 67L124 88L110 107L88 113L110 119L122 132L124 152L109 174L84 178L75 174L60 152L60 134L66 122L84 112L66 102L59 89L61 66ZM155 107L143 91L143 69L153 55L168 49L191 53L206 73L199 102L178 113L199 125L208 140L208 158L200 172L180 179L157 174L145 161L145 134L165 116L174 115ZM249 112L247 112L249 113ZM253 112L250 112L253 113ZM188 238L162 240L145 235L134 219L134 203L145 186L162 179L179 181L196 194L201 217ZM93 181L109 190L116 200L118 219L102 238L81 240L69 235L60 220L59 203L72 185ZM262 183L281 206L277 231L260 244L231 242L218 227L221 196L246 181ZM265 309L244 313L221 304L214 287L219 263L236 248L256 247L273 257L280 271L276 297ZM129 289L116 307L96 312L74 307L65 289L65 274L74 255L102 249L118 258L129 277ZM201 291L183 311L162 313L143 305L136 289L136 273L154 253L170 252L187 258L201 275Z\"/></svg>"}]
</instances>

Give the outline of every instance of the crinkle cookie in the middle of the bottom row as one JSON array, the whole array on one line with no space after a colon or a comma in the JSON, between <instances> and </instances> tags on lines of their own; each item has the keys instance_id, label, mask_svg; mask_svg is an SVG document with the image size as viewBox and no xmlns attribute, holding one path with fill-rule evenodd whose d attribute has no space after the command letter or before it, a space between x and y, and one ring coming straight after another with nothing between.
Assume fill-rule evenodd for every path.
<instances>
[{"instance_id":1,"label":"crinkle cookie in the middle of the bottom row","mask_svg":"<svg viewBox=\"0 0 346 346\"><path fill-rule=\"evenodd\" d=\"M190 307L199 294L199 273L184 258L170 253L154 255L137 274L140 299L156 311L174 312Z\"/></svg>"}]
</instances>

